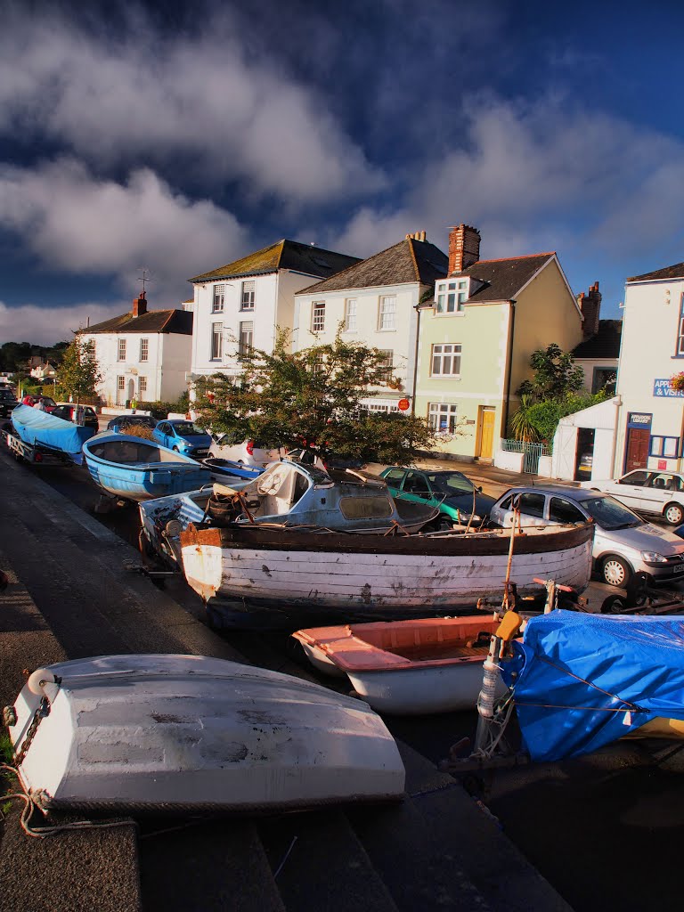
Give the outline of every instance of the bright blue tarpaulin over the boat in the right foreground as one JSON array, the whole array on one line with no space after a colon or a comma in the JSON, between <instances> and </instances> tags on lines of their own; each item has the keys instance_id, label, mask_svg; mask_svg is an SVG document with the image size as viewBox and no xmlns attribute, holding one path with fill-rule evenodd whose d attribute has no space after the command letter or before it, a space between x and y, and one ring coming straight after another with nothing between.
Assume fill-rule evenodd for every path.
<instances>
[{"instance_id":1,"label":"bright blue tarpaulin over the boat in the right foreground","mask_svg":"<svg viewBox=\"0 0 684 912\"><path fill-rule=\"evenodd\" d=\"M535 761L596 751L652 720L684 720L684 617L552 611L528 621L513 650L503 679Z\"/></svg>"}]
</instances>

